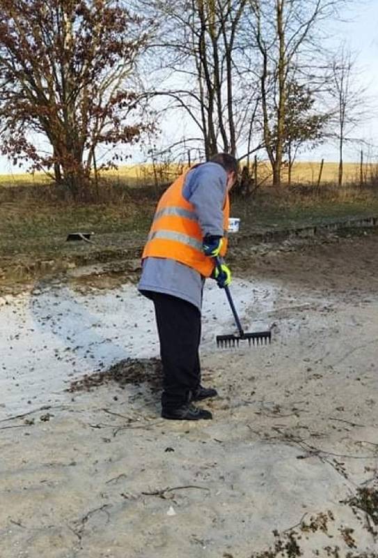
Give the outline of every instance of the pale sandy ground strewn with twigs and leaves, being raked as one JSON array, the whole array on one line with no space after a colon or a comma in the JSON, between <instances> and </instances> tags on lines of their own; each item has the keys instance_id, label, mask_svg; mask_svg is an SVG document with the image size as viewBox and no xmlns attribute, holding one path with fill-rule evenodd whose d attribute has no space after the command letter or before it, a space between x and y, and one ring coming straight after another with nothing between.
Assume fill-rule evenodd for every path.
<instances>
[{"instance_id":1,"label":"pale sandy ground strewn with twigs and leaves, being raked","mask_svg":"<svg viewBox=\"0 0 378 558\"><path fill-rule=\"evenodd\" d=\"M378 557L377 249L244 248L235 302L274 341L216 350L233 320L207 286L203 383L219 398L199 423L159 416L133 285L3 297L0 557ZM146 382L68 391L111 365L127 379L128 358L152 359L132 361Z\"/></svg>"}]
</instances>

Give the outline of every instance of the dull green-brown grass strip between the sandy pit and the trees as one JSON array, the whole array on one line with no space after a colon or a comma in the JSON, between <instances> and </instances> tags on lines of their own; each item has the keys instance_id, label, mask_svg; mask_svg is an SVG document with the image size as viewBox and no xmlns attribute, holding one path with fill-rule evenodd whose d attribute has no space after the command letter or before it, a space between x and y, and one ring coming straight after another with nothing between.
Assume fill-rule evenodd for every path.
<instances>
[{"instance_id":1,"label":"dull green-brown grass strip between the sandy pit and the trees","mask_svg":"<svg viewBox=\"0 0 378 558\"><path fill-rule=\"evenodd\" d=\"M159 192L157 188L102 185L107 203L72 204L54 199L51 186L0 187L0 285L67 269L72 264L139 257ZM322 187L274 190L236 199L232 216L251 234L329 223L350 216L377 216L373 190ZM95 245L66 242L69 232L94 232Z\"/></svg>"}]
</instances>

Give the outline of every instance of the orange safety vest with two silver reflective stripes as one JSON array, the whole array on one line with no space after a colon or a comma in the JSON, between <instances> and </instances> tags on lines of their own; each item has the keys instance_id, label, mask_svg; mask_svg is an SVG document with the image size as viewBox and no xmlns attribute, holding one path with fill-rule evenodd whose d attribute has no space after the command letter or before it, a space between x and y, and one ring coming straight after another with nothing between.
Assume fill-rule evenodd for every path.
<instances>
[{"instance_id":1,"label":"orange safety vest with two silver reflective stripes","mask_svg":"<svg viewBox=\"0 0 378 558\"><path fill-rule=\"evenodd\" d=\"M173 182L160 198L152 221L148 241L142 259L162 257L196 269L204 277L210 277L214 269L214 259L203 253L203 231L198 223L194 205L182 195L187 173ZM227 251L228 217L230 200L228 194L223 207L223 246L220 255Z\"/></svg>"}]
</instances>

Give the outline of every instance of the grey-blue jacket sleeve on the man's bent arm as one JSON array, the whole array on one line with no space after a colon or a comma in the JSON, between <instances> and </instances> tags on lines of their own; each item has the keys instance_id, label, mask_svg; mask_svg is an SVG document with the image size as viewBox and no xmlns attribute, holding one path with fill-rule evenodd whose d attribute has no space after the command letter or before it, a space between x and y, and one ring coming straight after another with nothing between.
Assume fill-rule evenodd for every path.
<instances>
[{"instance_id":1,"label":"grey-blue jacket sleeve on the man's bent arm","mask_svg":"<svg viewBox=\"0 0 378 558\"><path fill-rule=\"evenodd\" d=\"M194 205L203 236L223 236L223 206L227 173L216 163L205 163L189 172L182 194Z\"/></svg>"}]
</instances>

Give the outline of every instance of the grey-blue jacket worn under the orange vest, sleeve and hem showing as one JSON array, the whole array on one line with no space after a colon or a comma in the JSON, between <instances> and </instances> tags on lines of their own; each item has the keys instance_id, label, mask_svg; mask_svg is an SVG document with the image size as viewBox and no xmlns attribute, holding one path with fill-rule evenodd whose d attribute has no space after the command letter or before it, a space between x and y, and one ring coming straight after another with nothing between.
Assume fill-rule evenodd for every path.
<instances>
[{"instance_id":1,"label":"grey-blue jacket worn under the orange vest, sleeve and hem showing","mask_svg":"<svg viewBox=\"0 0 378 558\"><path fill-rule=\"evenodd\" d=\"M203 232L223 236L223 206L227 193L227 173L218 163L203 163L188 172L182 194L193 204ZM145 296L160 292L177 296L201 309L205 279L195 269L171 258L148 257L138 289Z\"/></svg>"}]
</instances>

